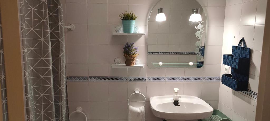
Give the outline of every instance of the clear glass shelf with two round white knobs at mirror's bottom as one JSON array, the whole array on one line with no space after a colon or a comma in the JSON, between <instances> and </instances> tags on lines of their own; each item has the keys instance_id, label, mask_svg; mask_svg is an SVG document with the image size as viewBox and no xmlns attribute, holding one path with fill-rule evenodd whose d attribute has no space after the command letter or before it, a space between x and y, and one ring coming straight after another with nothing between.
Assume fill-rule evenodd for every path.
<instances>
[{"instance_id":1,"label":"clear glass shelf with two round white knobs at mirror's bottom","mask_svg":"<svg viewBox=\"0 0 270 121\"><path fill-rule=\"evenodd\" d=\"M150 68L201 68L203 63L199 62L151 62Z\"/></svg>"}]
</instances>

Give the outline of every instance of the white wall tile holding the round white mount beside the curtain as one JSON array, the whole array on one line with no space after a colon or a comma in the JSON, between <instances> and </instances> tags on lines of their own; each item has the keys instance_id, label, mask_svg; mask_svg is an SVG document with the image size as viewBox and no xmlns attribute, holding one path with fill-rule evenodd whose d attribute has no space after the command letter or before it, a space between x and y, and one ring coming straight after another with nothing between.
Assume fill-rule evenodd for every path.
<instances>
[{"instance_id":1,"label":"white wall tile holding the round white mount beside the curtain","mask_svg":"<svg viewBox=\"0 0 270 121\"><path fill-rule=\"evenodd\" d=\"M74 25L76 29L73 31L66 31L66 34L68 35L68 44L87 44L87 26L85 24Z\"/></svg>"}]
</instances>

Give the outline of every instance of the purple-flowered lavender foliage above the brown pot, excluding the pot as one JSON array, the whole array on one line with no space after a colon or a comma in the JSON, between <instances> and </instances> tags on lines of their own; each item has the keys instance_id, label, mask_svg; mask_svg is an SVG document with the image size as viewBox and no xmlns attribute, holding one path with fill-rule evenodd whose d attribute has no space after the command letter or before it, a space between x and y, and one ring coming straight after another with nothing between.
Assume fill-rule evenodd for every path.
<instances>
[{"instance_id":1,"label":"purple-flowered lavender foliage above the brown pot, excluding the pot","mask_svg":"<svg viewBox=\"0 0 270 121\"><path fill-rule=\"evenodd\" d=\"M134 47L134 42L133 43L126 43L124 46L124 55L125 56L135 56L137 55L137 52L139 52L138 50L139 47Z\"/></svg>"}]
</instances>

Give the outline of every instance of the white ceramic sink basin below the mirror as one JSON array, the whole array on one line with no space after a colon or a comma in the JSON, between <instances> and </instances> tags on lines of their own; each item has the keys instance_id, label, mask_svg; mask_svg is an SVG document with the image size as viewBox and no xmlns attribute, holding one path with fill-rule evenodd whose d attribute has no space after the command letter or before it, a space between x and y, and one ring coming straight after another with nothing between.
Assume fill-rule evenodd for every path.
<instances>
[{"instance_id":1,"label":"white ceramic sink basin below the mirror","mask_svg":"<svg viewBox=\"0 0 270 121\"><path fill-rule=\"evenodd\" d=\"M213 113L213 108L198 97L181 96L180 106L174 106L173 102L173 96L151 97L150 108L156 117L167 121L197 121Z\"/></svg>"}]
</instances>

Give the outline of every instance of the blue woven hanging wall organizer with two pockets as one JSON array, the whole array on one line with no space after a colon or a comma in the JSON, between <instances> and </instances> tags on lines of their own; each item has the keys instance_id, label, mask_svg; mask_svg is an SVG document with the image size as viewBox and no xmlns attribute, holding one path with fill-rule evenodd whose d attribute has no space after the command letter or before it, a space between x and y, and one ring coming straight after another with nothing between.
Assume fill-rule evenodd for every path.
<instances>
[{"instance_id":1,"label":"blue woven hanging wall organizer with two pockets","mask_svg":"<svg viewBox=\"0 0 270 121\"><path fill-rule=\"evenodd\" d=\"M243 43L244 47L241 47ZM223 55L223 64L232 67L231 74L222 75L222 84L235 91L247 91L249 79L250 48L244 37L238 46L232 46L232 54Z\"/></svg>"}]
</instances>

